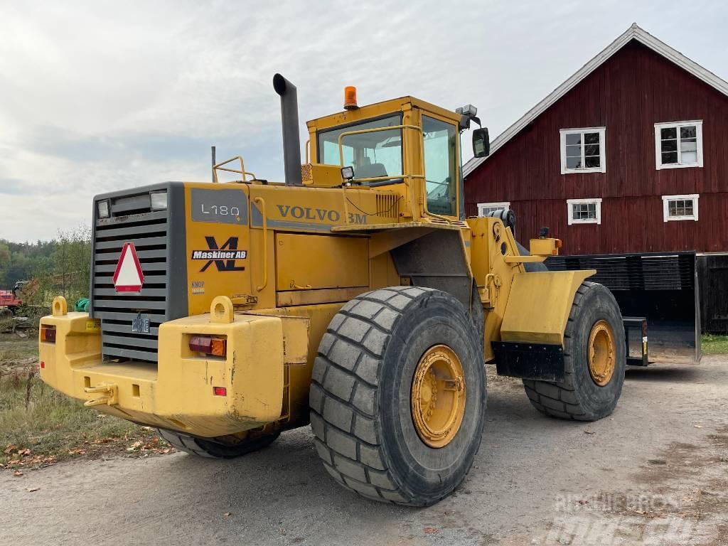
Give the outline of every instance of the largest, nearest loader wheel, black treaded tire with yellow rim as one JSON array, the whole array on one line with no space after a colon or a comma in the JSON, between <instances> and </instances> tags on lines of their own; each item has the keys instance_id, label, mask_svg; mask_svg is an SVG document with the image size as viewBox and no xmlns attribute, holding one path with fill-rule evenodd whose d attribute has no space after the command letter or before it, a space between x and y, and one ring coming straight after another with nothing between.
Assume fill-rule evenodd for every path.
<instances>
[{"instance_id":1,"label":"largest, nearest loader wheel, black treaded tire with yellow rim","mask_svg":"<svg viewBox=\"0 0 728 546\"><path fill-rule=\"evenodd\" d=\"M318 454L337 482L377 501L432 505L462 482L480 446L480 333L440 290L365 293L321 340L310 405Z\"/></svg>"}]
</instances>

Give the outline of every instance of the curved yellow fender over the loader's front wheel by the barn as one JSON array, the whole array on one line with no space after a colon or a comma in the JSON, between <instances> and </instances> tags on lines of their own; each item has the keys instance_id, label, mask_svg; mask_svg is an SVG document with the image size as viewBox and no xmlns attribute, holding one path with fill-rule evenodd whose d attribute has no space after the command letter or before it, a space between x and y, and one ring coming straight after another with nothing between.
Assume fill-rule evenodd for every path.
<instances>
[{"instance_id":1,"label":"curved yellow fender over the loader's front wheel by the barn","mask_svg":"<svg viewBox=\"0 0 728 546\"><path fill-rule=\"evenodd\" d=\"M563 344L577 288L596 270L518 273L500 329L501 341Z\"/></svg>"}]
</instances>

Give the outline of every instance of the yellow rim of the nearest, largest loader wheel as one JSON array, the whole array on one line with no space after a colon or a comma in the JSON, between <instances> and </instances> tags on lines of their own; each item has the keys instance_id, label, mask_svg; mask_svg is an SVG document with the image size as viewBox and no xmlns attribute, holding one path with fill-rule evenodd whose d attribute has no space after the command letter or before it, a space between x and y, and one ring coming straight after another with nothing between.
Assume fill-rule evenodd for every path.
<instances>
[{"instance_id":1,"label":"yellow rim of the nearest, largest loader wheel","mask_svg":"<svg viewBox=\"0 0 728 546\"><path fill-rule=\"evenodd\" d=\"M412 421L419 438L442 448L455 438L465 413L465 374L455 352L435 345L424 352L412 379Z\"/></svg>"}]
</instances>

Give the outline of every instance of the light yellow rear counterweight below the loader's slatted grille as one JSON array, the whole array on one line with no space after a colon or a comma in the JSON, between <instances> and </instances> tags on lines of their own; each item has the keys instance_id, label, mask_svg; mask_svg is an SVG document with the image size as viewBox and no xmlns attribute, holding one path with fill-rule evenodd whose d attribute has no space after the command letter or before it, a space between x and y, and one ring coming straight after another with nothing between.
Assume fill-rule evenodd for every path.
<instances>
[{"instance_id":1,"label":"light yellow rear counterweight below the loader's slatted grille","mask_svg":"<svg viewBox=\"0 0 728 546\"><path fill-rule=\"evenodd\" d=\"M103 361L100 334L87 331L87 321L87 313L41 319L41 325L55 326L58 340L40 343L41 379L104 413L200 436L287 420L285 368L306 368L310 357L308 317L234 314L231 323L219 323L202 314L172 320L159 327L156 365ZM225 338L226 357L191 352L193 335ZM215 395L213 387L224 387L226 395ZM108 403L98 403L105 396Z\"/></svg>"}]
</instances>

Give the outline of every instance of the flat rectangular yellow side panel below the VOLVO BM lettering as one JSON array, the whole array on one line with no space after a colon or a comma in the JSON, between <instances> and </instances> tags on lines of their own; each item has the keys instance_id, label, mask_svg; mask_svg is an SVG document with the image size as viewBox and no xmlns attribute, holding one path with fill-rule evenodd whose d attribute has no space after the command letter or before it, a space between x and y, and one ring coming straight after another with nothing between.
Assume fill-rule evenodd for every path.
<instances>
[{"instance_id":1,"label":"flat rectangular yellow side panel below the VOLVO BM lettering","mask_svg":"<svg viewBox=\"0 0 728 546\"><path fill-rule=\"evenodd\" d=\"M363 237L276 234L278 290L369 285L369 248Z\"/></svg>"}]
</instances>

